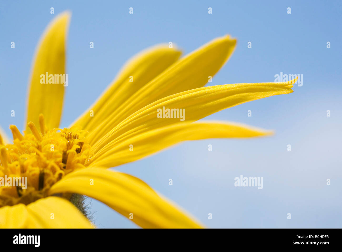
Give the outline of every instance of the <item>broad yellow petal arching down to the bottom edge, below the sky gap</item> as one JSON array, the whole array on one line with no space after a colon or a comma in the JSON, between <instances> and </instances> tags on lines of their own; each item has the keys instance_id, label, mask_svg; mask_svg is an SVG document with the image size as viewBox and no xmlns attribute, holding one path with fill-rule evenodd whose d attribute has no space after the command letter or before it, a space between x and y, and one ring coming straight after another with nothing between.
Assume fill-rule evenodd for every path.
<instances>
[{"instance_id":1,"label":"broad yellow petal arching down to the bottom edge, below the sky gap","mask_svg":"<svg viewBox=\"0 0 342 252\"><path fill-rule=\"evenodd\" d=\"M91 184L93 181L93 185ZM99 200L143 228L199 228L174 204L131 175L103 168L69 173L49 193L79 193Z\"/></svg>"}]
</instances>

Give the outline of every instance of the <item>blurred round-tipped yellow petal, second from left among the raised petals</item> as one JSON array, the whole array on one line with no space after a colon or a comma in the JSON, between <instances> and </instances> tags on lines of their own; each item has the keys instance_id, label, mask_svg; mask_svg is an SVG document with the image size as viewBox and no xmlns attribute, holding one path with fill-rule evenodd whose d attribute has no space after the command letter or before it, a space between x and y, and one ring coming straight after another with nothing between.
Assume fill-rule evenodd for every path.
<instances>
[{"instance_id":1,"label":"blurred round-tipped yellow petal, second from left among the raised petals","mask_svg":"<svg viewBox=\"0 0 342 252\"><path fill-rule=\"evenodd\" d=\"M130 59L100 98L73 124L92 131L99 121L104 121L124 101L133 95L181 56L181 51L168 45L157 45ZM90 116L89 111L94 111Z\"/></svg>"}]
</instances>

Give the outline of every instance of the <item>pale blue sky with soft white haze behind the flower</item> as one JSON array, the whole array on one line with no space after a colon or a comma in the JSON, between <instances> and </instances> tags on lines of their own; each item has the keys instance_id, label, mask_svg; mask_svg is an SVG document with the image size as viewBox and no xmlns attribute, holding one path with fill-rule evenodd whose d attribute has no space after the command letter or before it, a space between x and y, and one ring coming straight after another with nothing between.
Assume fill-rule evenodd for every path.
<instances>
[{"instance_id":1,"label":"pale blue sky with soft white haze behind the flower","mask_svg":"<svg viewBox=\"0 0 342 252\"><path fill-rule=\"evenodd\" d=\"M0 125L9 135L9 124L22 129L36 45L64 10L72 17L61 127L86 110L140 50L173 41L186 55L230 34L238 40L236 50L210 85L273 82L283 72L303 74L303 86L205 119L246 123L275 135L184 142L117 169L141 178L210 228L341 228L341 6L331 0L1 1ZM263 177L263 189L235 187L240 175ZM96 200L90 211L99 228L137 227Z\"/></svg>"}]
</instances>

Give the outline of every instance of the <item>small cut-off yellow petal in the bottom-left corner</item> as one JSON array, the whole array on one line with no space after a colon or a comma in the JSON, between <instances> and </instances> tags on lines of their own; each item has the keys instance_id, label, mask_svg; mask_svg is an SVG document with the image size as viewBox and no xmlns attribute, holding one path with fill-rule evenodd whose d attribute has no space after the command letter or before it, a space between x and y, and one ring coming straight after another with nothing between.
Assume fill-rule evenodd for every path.
<instances>
[{"instance_id":1,"label":"small cut-off yellow petal in the bottom-left corner","mask_svg":"<svg viewBox=\"0 0 342 252\"><path fill-rule=\"evenodd\" d=\"M26 228L28 212L24 204L0 208L0 228Z\"/></svg>"}]
</instances>

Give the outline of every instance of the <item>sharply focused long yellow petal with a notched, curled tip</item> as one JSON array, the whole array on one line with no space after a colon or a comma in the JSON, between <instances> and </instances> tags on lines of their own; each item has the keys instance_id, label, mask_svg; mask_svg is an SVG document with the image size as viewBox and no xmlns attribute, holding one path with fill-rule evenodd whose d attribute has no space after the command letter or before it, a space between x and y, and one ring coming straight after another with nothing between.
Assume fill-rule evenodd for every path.
<instances>
[{"instance_id":1,"label":"sharply focused long yellow petal with a notched, curled tip","mask_svg":"<svg viewBox=\"0 0 342 252\"><path fill-rule=\"evenodd\" d=\"M136 111L120 122L93 145L92 152L95 156L100 156L103 153L101 149L110 142L115 144L121 139L180 122L181 118L158 118L158 109L163 109L163 107L185 110L185 121L192 122L247 101L292 93L290 83L227 84L201 87L170 95Z\"/></svg>"}]
</instances>

